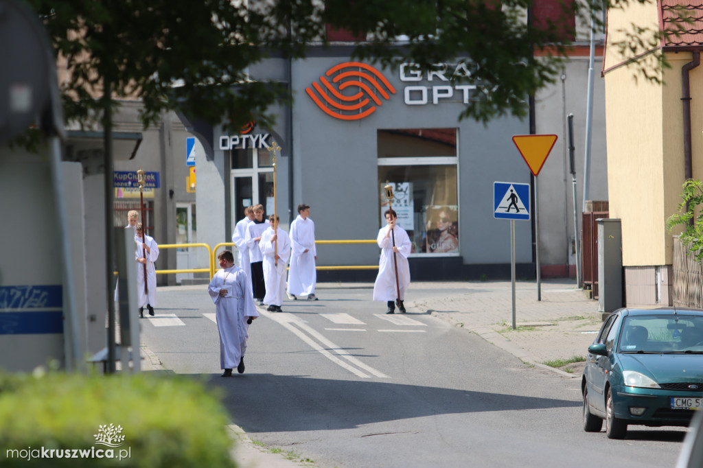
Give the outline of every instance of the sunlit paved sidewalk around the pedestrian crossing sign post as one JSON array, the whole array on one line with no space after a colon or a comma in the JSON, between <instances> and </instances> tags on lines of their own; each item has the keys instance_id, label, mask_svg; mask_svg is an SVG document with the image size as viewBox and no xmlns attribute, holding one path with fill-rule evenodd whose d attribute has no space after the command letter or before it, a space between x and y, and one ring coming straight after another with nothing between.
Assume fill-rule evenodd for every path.
<instances>
[{"instance_id":1,"label":"sunlit paved sidewalk around the pedestrian crossing sign post","mask_svg":"<svg viewBox=\"0 0 703 468\"><path fill-rule=\"evenodd\" d=\"M465 288L465 293L442 295L440 291L431 299L415 300L413 311L431 313L474 332L525 363L565 377L581 377L582 365L570 366L574 372L567 373L543 364L573 356L585 358L602 324L598 301L588 299L586 292L576 289L574 280L542 280L541 301L537 301L535 281L517 282L515 330L512 330L510 281L458 284ZM416 283L415 288L427 285L432 283Z\"/></svg>"}]
</instances>

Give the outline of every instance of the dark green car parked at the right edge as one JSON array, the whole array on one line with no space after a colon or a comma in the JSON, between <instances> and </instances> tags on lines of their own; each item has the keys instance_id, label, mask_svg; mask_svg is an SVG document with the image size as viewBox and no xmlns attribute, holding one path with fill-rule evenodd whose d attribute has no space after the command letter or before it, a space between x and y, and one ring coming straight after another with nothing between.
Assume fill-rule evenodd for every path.
<instances>
[{"instance_id":1,"label":"dark green car parked at the right edge","mask_svg":"<svg viewBox=\"0 0 703 468\"><path fill-rule=\"evenodd\" d=\"M703 410L703 310L621 308L588 347L583 430L624 438L629 424L688 426Z\"/></svg>"}]
</instances>

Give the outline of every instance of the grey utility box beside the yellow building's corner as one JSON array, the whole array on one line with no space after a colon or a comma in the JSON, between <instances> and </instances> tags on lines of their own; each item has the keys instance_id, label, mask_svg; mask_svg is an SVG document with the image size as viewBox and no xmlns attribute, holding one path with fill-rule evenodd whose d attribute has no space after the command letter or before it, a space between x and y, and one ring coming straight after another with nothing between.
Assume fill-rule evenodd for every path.
<instances>
[{"instance_id":1,"label":"grey utility box beside the yellow building's corner","mask_svg":"<svg viewBox=\"0 0 703 468\"><path fill-rule=\"evenodd\" d=\"M619 219L597 219L598 311L603 316L622 307L622 227Z\"/></svg>"}]
</instances>

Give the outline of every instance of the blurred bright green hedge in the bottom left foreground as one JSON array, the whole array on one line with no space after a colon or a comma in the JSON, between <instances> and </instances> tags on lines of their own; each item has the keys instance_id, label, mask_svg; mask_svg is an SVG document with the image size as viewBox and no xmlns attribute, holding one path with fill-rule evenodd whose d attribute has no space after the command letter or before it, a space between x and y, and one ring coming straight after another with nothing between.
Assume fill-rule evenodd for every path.
<instances>
[{"instance_id":1,"label":"blurred bright green hedge in the bottom left foreground","mask_svg":"<svg viewBox=\"0 0 703 468\"><path fill-rule=\"evenodd\" d=\"M115 458L8 456L7 450L107 450L101 426L122 428ZM226 412L202 384L153 375L0 375L3 467L234 467ZM130 457L119 460L120 450Z\"/></svg>"}]
</instances>

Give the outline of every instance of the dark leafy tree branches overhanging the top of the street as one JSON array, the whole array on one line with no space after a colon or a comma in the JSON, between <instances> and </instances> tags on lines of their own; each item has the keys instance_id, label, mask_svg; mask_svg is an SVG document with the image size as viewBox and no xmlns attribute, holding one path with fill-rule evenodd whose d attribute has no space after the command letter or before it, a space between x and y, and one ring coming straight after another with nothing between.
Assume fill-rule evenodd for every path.
<instances>
[{"instance_id":1,"label":"dark leafy tree branches overhanging the top of the street","mask_svg":"<svg viewBox=\"0 0 703 468\"><path fill-rule=\"evenodd\" d=\"M412 62L429 70L456 57L472 60L471 77L484 98L460 117L488 122L527 114L526 97L553 82L569 41L560 24L528 27L531 0L27 0L44 19L63 84L67 119L86 124L114 98L143 101L148 125L165 110L239 128L251 119L273 123L267 109L292 99L280 82L256 81L247 67L271 56L302 58L327 46L325 25L365 37L353 57L383 65ZM628 0L612 0L620 4ZM646 0L635 0L646 1ZM597 0L567 2L565 18ZM588 10L586 10L588 11ZM396 41L404 36L402 45ZM534 56L534 48L550 54Z\"/></svg>"}]
</instances>

